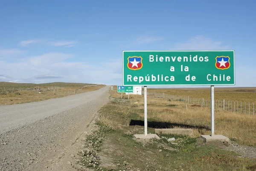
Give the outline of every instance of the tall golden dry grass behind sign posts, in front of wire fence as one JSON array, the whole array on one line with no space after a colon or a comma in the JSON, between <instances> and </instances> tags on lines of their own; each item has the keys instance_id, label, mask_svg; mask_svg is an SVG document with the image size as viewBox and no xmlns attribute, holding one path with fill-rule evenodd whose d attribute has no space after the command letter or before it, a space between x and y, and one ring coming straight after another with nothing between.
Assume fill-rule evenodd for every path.
<instances>
[{"instance_id":1,"label":"tall golden dry grass behind sign posts, in front of wire fence","mask_svg":"<svg viewBox=\"0 0 256 171\"><path fill-rule=\"evenodd\" d=\"M121 98L119 93L111 93L115 98ZM128 96L123 95L123 98ZM143 96L130 95L129 110L120 107L120 113L137 113L138 120L144 120ZM113 126L115 120L110 119ZM107 122L107 121L105 121ZM128 122L125 123L128 126ZM207 107L192 107L180 101L169 101L148 96L148 127L192 128L193 137L210 134L211 115ZM228 111L215 110L215 134L221 134L236 139L242 145L256 146L256 116L249 116Z\"/></svg>"}]
</instances>

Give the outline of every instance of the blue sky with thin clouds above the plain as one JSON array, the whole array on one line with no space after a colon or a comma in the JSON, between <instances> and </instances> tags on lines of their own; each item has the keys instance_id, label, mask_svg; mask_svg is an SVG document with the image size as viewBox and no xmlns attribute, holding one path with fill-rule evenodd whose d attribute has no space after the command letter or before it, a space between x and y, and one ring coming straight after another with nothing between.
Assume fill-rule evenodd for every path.
<instances>
[{"instance_id":1,"label":"blue sky with thin clouds above the plain","mask_svg":"<svg viewBox=\"0 0 256 171\"><path fill-rule=\"evenodd\" d=\"M256 86L256 2L0 1L0 81L122 84L122 50L232 49Z\"/></svg>"}]
</instances>

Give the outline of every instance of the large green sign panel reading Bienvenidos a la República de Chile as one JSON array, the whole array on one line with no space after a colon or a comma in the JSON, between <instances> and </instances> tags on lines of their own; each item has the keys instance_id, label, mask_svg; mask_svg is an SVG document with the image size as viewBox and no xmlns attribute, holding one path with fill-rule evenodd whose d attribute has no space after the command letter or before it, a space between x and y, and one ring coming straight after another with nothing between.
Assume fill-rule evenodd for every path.
<instances>
[{"instance_id":1,"label":"large green sign panel reading Bienvenidos a la Rep\u00fablica de Chile","mask_svg":"<svg viewBox=\"0 0 256 171\"><path fill-rule=\"evenodd\" d=\"M123 85L235 85L234 50L123 51Z\"/></svg>"}]
</instances>

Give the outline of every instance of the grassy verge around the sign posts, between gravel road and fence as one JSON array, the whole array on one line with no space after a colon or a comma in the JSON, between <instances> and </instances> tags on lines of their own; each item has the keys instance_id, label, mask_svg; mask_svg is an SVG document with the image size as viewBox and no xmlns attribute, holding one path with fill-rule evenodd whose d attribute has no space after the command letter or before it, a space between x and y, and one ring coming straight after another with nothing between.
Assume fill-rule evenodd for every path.
<instances>
[{"instance_id":1,"label":"grassy verge around the sign posts, between gravel road and fence","mask_svg":"<svg viewBox=\"0 0 256 171\"><path fill-rule=\"evenodd\" d=\"M155 90L154 90L155 91ZM175 90L162 90L172 91ZM206 91L206 90L205 90ZM192 91L193 96L203 95L200 90ZM235 93L234 93L235 94ZM172 94L175 95L175 94ZM179 92L176 95L180 95ZM184 94L188 95L188 94ZM236 96L236 95L234 95ZM247 95L241 98L246 99ZM88 158L81 161L87 167L104 171L255 171L256 159L239 157L231 151L215 145L203 145L201 134L210 134L210 109L188 106L181 101L148 96L148 133L154 128L192 128L192 137L163 135L160 140L137 142L134 134L144 133L143 96L111 93L111 100L99 111L100 129L88 137L90 147L95 147ZM222 134L240 145L256 147L256 118L228 111L215 112L215 134ZM175 137L174 142L167 139ZM100 158L100 159L99 159ZM102 165L100 165L100 163ZM111 169L112 168L112 169Z\"/></svg>"}]
</instances>

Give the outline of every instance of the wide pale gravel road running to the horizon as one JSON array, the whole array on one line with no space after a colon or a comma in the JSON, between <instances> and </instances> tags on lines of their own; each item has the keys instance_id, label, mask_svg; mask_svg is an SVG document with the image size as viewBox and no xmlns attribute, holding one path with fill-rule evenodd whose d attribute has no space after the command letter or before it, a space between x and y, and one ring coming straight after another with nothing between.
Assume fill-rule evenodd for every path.
<instances>
[{"instance_id":1,"label":"wide pale gravel road running to the horizon","mask_svg":"<svg viewBox=\"0 0 256 171\"><path fill-rule=\"evenodd\" d=\"M75 171L82 139L108 90L0 106L0 171Z\"/></svg>"}]
</instances>

